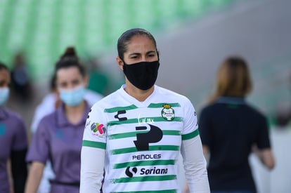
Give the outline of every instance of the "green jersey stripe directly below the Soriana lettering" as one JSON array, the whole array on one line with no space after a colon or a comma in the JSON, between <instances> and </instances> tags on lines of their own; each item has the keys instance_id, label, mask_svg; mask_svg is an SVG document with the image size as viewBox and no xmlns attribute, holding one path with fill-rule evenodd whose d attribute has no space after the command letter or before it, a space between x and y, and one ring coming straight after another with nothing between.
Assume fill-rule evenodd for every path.
<instances>
[{"instance_id":1,"label":"green jersey stripe directly below the Soriana lettering","mask_svg":"<svg viewBox=\"0 0 291 193\"><path fill-rule=\"evenodd\" d=\"M112 179L112 183L127 183L127 182L145 182L145 181L165 181L176 180L176 175L147 175L142 177L132 178L117 178Z\"/></svg>"}]
</instances>

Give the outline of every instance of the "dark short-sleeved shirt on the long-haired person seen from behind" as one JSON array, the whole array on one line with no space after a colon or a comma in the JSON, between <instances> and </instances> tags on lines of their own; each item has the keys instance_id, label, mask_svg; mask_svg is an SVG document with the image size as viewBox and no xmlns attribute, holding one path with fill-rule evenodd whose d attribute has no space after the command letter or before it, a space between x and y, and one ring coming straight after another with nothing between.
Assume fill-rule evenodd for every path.
<instances>
[{"instance_id":1,"label":"dark short-sleeved shirt on the long-haired person seen from behind","mask_svg":"<svg viewBox=\"0 0 291 193\"><path fill-rule=\"evenodd\" d=\"M266 117L243 99L222 99L202 109L198 122L202 145L210 151L210 189L255 192L248 157L252 145L271 147Z\"/></svg>"}]
</instances>

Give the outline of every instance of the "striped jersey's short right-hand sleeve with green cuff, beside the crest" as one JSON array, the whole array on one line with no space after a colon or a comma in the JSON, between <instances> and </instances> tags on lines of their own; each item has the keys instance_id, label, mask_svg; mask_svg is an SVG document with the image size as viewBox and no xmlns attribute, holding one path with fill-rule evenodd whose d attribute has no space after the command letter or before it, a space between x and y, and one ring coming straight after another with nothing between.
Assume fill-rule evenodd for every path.
<instances>
[{"instance_id":1,"label":"striped jersey's short right-hand sleeve with green cuff, beside the crest","mask_svg":"<svg viewBox=\"0 0 291 193\"><path fill-rule=\"evenodd\" d=\"M182 134L182 140L189 140L199 135L197 114L190 100L186 100L186 104L184 108L185 108L184 109L185 115L183 117L184 126L183 126L183 131L181 132L181 134Z\"/></svg>"}]
</instances>

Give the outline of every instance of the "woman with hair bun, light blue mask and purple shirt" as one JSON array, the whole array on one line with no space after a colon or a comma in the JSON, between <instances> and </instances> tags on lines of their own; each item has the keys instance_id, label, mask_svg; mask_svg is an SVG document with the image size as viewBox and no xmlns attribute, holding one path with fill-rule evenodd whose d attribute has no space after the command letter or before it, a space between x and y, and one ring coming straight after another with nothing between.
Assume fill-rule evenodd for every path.
<instances>
[{"instance_id":1,"label":"woman with hair bun, light blue mask and purple shirt","mask_svg":"<svg viewBox=\"0 0 291 193\"><path fill-rule=\"evenodd\" d=\"M55 67L60 106L46 115L37 127L27 153L31 163L25 192L37 192L46 161L51 161L55 178L50 192L79 193L80 154L84 125L90 106L84 100L88 77L74 48Z\"/></svg>"}]
</instances>

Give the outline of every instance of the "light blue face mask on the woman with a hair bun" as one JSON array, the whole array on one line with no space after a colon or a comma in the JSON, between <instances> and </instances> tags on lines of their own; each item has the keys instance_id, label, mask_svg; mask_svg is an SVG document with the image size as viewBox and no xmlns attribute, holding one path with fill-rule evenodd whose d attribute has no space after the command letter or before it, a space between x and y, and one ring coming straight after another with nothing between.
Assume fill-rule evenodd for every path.
<instances>
[{"instance_id":1,"label":"light blue face mask on the woman with a hair bun","mask_svg":"<svg viewBox=\"0 0 291 193\"><path fill-rule=\"evenodd\" d=\"M62 100L66 105L75 107L83 101L86 88L84 88L84 86L79 86L72 90L59 89L59 92L60 100Z\"/></svg>"}]
</instances>

